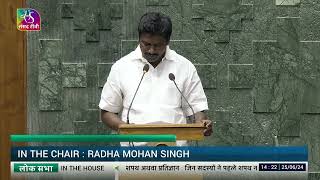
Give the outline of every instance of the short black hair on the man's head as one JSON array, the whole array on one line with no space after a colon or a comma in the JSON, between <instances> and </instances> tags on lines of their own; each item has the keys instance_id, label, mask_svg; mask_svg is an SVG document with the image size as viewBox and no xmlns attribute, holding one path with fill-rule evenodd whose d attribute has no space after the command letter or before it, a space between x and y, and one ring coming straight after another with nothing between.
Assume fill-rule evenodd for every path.
<instances>
[{"instance_id":1,"label":"short black hair on the man's head","mask_svg":"<svg viewBox=\"0 0 320 180\"><path fill-rule=\"evenodd\" d=\"M140 18L138 32L139 39L142 33L149 33L162 36L168 43L172 33L171 19L162 13L147 12Z\"/></svg>"}]
</instances>

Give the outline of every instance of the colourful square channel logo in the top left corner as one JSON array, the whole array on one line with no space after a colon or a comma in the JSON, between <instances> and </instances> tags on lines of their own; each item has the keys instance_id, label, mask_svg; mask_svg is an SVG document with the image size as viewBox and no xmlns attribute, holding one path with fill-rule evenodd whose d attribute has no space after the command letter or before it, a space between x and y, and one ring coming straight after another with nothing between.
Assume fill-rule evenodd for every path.
<instances>
[{"instance_id":1,"label":"colourful square channel logo in the top left corner","mask_svg":"<svg viewBox=\"0 0 320 180\"><path fill-rule=\"evenodd\" d=\"M40 31L40 14L31 8L17 9L17 29L19 31Z\"/></svg>"}]
</instances>

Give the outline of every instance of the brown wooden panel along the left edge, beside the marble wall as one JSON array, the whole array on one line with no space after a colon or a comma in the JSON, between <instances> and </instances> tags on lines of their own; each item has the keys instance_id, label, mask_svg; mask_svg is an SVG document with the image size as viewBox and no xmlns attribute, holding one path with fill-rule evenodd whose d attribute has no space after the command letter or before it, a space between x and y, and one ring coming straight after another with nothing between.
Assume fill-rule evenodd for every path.
<instances>
[{"instance_id":1,"label":"brown wooden panel along the left edge, beside the marble wall","mask_svg":"<svg viewBox=\"0 0 320 180\"><path fill-rule=\"evenodd\" d=\"M10 178L10 134L26 132L26 38L16 28L24 0L1 0L0 11L0 179Z\"/></svg>"}]
</instances>

